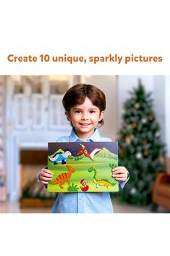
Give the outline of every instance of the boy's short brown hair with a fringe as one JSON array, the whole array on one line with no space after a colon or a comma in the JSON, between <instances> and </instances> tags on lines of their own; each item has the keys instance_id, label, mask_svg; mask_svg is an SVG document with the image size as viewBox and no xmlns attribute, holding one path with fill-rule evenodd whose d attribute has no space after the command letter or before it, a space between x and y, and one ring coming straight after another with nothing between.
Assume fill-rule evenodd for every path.
<instances>
[{"instance_id":1,"label":"boy's short brown hair with a fringe","mask_svg":"<svg viewBox=\"0 0 170 256\"><path fill-rule=\"evenodd\" d=\"M75 86L69 88L62 99L62 104L66 112L69 112L71 107L75 107L77 104L85 102L85 98L88 97L90 101L99 108L100 112L106 109L106 96L99 88L90 84L78 83ZM98 122L100 126L103 125L103 119Z\"/></svg>"}]
</instances>

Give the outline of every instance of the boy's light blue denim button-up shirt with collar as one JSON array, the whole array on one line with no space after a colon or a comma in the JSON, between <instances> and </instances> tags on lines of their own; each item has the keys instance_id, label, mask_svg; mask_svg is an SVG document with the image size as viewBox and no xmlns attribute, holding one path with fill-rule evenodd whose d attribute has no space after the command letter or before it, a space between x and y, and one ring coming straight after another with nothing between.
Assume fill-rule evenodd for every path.
<instances>
[{"instance_id":1,"label":"boy's light blue denim button-up shirt with collar","mask_svg":"<svg viewBox=\"0 0 170 256\"><path fill-rule=\"evenodd\" d=\"M81 142L75 134L74 128L70 136L64 136L57 142ZM93 135L85 141L111 141L101 137L96 128ZM126 182L119 182L119 189L123 189ZM52 207L53 213L112 213L114 212L109 192L75 192L59 193Z\"/></svg>"}]
</instances>

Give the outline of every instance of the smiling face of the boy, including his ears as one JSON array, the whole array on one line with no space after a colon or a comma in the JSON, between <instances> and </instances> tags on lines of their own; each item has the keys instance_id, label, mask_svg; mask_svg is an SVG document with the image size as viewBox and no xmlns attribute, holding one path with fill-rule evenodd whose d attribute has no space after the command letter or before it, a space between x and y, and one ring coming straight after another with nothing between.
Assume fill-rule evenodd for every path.
<instances>
[{"instance_id":1,"label":"smiling face of the boy, including his ears","mask_svg":"<svg viewBox=\"0 0 170 256\"><path fill-rule=\"evenodd\" d=\"M93 105L88 97L85 102L75 107L71 107L66 113L69 122L75 128L75 132L80 139L88 139L92 136L98 122L102 120L104 111Z\"/></svg>"}]
</instances>

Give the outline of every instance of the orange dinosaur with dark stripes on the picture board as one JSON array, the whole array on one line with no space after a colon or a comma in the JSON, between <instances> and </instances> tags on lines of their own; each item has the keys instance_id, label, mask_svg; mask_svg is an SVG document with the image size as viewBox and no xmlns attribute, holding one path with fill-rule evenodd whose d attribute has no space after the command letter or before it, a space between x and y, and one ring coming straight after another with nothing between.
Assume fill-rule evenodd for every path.
<instances>
[{"instance_id":1,"label":"orange dinosaur with dark stripes on the picture board","mask_svg":"<svg viewBox=\"0 0 170 256\"><path fill-rule=\"evenodd\" d=\"M68 168L69 173L61 173L61 174L59 174L59 176L57 176L56 179L54 181L52 181L50 184L53 184L53 185L59 184L60 189L64 189L62 185L66 181L69 183L69 179L70 179L72 173L75 172L75 169L72 168L71 165L66 165L66 167Z\"/></svg>"}]
</instances>

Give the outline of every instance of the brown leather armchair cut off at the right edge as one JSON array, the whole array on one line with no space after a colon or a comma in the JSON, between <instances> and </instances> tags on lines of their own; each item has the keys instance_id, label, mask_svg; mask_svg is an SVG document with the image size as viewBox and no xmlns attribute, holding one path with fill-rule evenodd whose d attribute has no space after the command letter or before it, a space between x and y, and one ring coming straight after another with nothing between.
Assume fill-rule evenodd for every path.
<instances>
[{"instance_id":1,"label":"brown leather armchair cut off at the right edge","mask_svg":"<svg viewBox=\"0 0 170 256\"><path fill-rule=\"evenodd\" d=\"M166 158L165 173L158 173L153 184L153 206L156 211L158 206L170 211L170 158Z\"/></svg>"}]
</instances>

